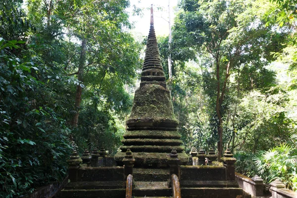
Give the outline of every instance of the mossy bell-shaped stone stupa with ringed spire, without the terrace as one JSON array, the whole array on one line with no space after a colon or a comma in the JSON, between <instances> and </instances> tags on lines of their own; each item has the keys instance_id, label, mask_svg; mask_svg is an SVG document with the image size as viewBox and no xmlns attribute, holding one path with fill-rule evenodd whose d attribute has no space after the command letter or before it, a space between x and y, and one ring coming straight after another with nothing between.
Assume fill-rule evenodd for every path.
<instances>
[{"instance_id":1,"label":"mossy bell-shaped stone stupa with ringed spire, without the terrace","mask_svg":"<svg viewBox=\"0 0 297 198\"><path fill-rule=\"evenodd\" d=\"M183 152L178 121L173 113L170 92L159 56L151 7L150 29L140 88L135 91L134 103L127 120L127 131L121 151L115 160L122 164L128 148L133 152L136 167L165 167L170 151L175 148L181 164L188 155Z\"/></svg>"}]
</instances>

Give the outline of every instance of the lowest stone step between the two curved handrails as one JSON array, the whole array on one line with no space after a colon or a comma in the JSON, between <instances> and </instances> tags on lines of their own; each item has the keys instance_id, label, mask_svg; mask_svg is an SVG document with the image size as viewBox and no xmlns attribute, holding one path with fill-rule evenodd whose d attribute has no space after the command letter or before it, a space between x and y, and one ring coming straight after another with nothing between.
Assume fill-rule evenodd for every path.
<instances>
[{"instance_id":1,"label":"lowest stone step between the two curved handrails","mask_svg":"<svg viewBox=\"0 0 297 198\"><path fill-rule=\"evenodd\" d=\"M135 197L170 197L172 190L167 187L167 182L137 182L132 190Z\"/></svg>"}]
</instances>

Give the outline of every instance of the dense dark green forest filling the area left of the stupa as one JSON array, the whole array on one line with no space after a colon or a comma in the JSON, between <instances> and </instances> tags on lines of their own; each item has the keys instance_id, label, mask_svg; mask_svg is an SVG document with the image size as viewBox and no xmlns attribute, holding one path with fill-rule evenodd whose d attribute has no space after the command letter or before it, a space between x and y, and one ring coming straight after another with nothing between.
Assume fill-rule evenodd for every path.
<instances>
[{"instance_id":1,"label":"dense dark green forest filling the area left of the stupa","mask_svg":"<svg viewBox=\"0 0 297 198\"><path fill-rule=\"evenodd\" d=\"M71 141L79 150L116 151L132 104L125 86L140 66L140 45L126 31L128 6L0 2L0 197L63 180Z\"/></svg>"}]
</instances>

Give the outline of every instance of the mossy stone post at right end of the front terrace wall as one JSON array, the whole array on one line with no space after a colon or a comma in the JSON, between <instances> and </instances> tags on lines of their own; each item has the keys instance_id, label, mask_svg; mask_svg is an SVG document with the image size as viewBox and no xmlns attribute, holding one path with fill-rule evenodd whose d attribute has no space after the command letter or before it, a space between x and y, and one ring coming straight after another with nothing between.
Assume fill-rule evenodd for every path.
<instances>
[{"instance_id":1,"label":"mossy stone post at right end of the front terrace wall","mask_svg":"<svg viewBox=\"0 0 297 198\"><path fill-rule=\"evenodd\" d=\"M224 156L221 158L223 165L226 167L227 180L235 180L235 166L236 158L233 157L229 148L226 148Z\"/></svg>"}]
</instances>

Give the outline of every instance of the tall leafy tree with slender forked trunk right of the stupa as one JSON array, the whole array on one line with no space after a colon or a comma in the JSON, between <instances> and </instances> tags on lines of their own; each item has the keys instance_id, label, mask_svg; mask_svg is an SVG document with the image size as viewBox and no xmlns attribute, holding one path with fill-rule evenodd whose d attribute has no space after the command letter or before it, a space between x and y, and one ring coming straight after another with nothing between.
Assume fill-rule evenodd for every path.
<instances>
[{"instance_id":1,"label":"tall leafy tree with slender forked trunk right of the stupa","mask_svg":"<svg viewBox=\"0 0 297 198\"><path fill-rule=\"evenodd\" d=\"M210 94L212 105L215 105L218 120L215 130L221 154L224 115L228 107L226 99L230 91L229 77L237 68L240 73L248 67L255 67L258 72L259 68L261 71L267 65L268 59L264 57L269 54L264 49L272 45L269 41L270 29L257 15L256 1L183 0L179 6L182 11L173 28L173 43L178 42L181 45L178 48L188 48L188 51L194 50L197 55L207 57L204 61L202 59L201 64L211 68L208 74L205 73L208 76L205 80L212 79L212 83L205 83L205 91ZM273 77L270 79L268 85L274 80Z\"/></svg>"}]
</instances>

